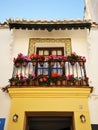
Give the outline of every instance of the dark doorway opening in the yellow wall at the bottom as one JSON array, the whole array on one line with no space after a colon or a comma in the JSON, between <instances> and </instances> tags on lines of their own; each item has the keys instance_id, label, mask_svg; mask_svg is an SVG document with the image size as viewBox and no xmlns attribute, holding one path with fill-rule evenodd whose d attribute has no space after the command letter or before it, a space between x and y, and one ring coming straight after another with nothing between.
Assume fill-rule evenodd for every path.
<instances>
[{"instance_id":1,"label":"dark doorway opening in the yellow wall at the bottom","mask_svg":"<svg viewBox=\"0 0 98 130\"><path fill-rule=\"evenodd\" d=\"M26 113L26 130L73 130L72 113Z\"/></svg>"}]
</instances>

